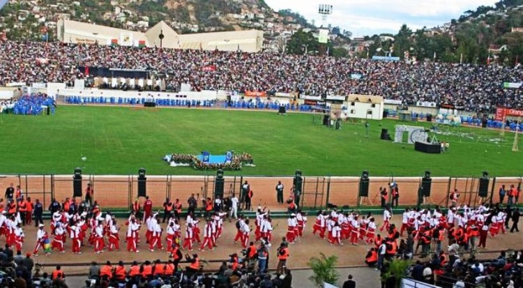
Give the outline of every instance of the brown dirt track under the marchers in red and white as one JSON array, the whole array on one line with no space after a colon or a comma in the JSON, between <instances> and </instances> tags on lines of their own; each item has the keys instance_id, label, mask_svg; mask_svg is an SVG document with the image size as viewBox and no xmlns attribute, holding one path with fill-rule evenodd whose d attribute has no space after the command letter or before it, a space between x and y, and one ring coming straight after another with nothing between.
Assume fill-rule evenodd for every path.
<instances>
[{"instance_id":1,"label":"brown dirt track under the marchers in red and white","mask_svg":"<svg viewBox=\"0 0 523 288\"><path fill-rule=\"evenodd\" d=\"M381 219L381 216L377 216L377 219ZM401 221L400 215L395 215L393 218L396 225L398 225ZM122 229L120 231L120 238L124 239L124 233L126 230L126 226L123 223L123 220L118 220L119 225L122 225ZM326 255L338 255L338 266L358 266L363 264L363 258L365 257L365 253L367 249L369 248L366 245L349 245L347 241L344 241L344 245L342 246L331 246L328 244L326 240L322 240L318 238L318 236L312 235L312 223L314 222L314 215L310 215L308 217L308 224L305 227L305 235L303 238L301 238L296 244L290 245L290 257L288 265L290 268L303 268L307 266L308 259L312 256L319 255L320 252L325 253ZM381 222L381 221L378 221ZM378 223L381 224L381 223ZM285 236L285 233L287 232L286 227L286 220L275 220L274 223L275 230L273 233L273 246L270 251L270 267L275 268L277 264L277 260L275 257L275 251L280 243L280 239L282 236ZM202 224L200 225L202 228ZM45 229L49 232L49 223L45 222ZM24 243L24 253L25 252L32 252L35 239L36 239L36 228L31 225L31 227L26 226L24 227L26 239ZM224 233L221 238L218 240L218 248L216 248L214 251L204 251L199 252L197 248L195 248L195 252L192 253L198 253L200 257L203 257L204 259L227 259L228 255L233 252L240 252L241 246L238 244L235 244L233 239L234 235L236 234L236 228L234 227L234 221L233 222L225 222L225 229ZM83 262L88 264L91 261L97 261L97 262L105 262L107 260L111 262L118 262L119 260L123 260L126 262L130 262L132 260L137 260L139 262L143 262L145 260L156 260L160 259L162 261L167 261L168 255L165 251L156 251L156 252L150 252L144 241L144 228L142 227L142 231L140 232L141 236L141 244L139 245L140 252L138 254L126 252L126 243L121 240L121 248L122 251L115 251L115 252L103 252L102 254L95 254L93 252L93 248L89 246L85 246L82 248L82 255L74 255L71 251L71 242L70 239L66 242L66 252L65 253L58 253L53 252L50 256L42 255L40 252L40 255L38 257L33 257L35 259L35 262L43 263L43 264L56 264L56 263L78 263ZM489 250L501 250L503 248L511 248L511 249L523 249L523 244L521 243L521 234L520 233L508 233L508 234L500 234L499 236L495 238L488 238L487 239L487 249L481 250L480 252L483 254L480 254L480 257L496 257L496 254L492 253L486 253ZM5 238L1 238L2 241L5 241ZM162 242L165 245L165 236L162 237ZM185 254L187 251L183 251ZM211 264L211 268L218 268L218 264ZM64 268L66 273L86 273L88 268L87 266L81 266L81 267L66 267ZM46 267L44 268L44 271L51 272L52 267Z\"/></svg>"}]
</instances>

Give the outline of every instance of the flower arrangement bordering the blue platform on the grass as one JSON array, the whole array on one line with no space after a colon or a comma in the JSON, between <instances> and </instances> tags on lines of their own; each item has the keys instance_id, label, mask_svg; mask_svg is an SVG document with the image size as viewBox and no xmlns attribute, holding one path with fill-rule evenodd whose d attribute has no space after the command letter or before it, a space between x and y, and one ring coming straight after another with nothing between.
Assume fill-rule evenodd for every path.
<instances>
[{"instance_id":1,"label":"flower arrangement bordering the blue platform on the grass","mask_svg":"<svg viewBox=\"0 0 523 288\"><path fill-rule=\"evenodd\" d=\"M204 163L197 156L190 154L173 153L170 162L176 164L188 164L197 170L217 170L224 169L227 171L241 170L243 165L253 165L254 159L249 153L242 152L232 156L232 161L227 163Z\"/></svg>"}]
</instances>

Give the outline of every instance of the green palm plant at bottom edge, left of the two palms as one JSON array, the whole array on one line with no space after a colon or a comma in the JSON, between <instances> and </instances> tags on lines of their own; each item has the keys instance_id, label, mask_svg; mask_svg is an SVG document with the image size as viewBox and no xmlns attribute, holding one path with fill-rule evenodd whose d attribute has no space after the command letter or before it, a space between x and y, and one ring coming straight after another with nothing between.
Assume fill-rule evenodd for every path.
<instances>
[{"instance_id":1,"label":"green palm plant at bottom edge, left of the two palms","mask_svg":"<svg viewBox=\"0 0 523 288\"><path fill-rule=\"evenodd\" d=\"M317 287L323 287L324 282L335 285L336 281L340 279L340 274L335 271L338 257L331 255L326 257L324 253L319 253L320 257L311 257L308 266L312 269L314 275L310 276L310 280L314 282Z\"/></svg>"}]
</instances>

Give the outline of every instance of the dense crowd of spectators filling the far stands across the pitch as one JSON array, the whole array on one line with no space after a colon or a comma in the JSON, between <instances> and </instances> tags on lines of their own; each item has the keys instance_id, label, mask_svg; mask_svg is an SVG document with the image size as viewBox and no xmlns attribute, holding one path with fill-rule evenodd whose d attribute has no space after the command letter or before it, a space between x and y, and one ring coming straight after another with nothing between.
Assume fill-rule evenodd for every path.
<instances>
[{"instance_id":1,"label":"dense crowd of spectators filling the far stands across the pitch","mask_svg":"<svg viewBox=\"0 0 523 288\"><path fill-rule=\"evenodd\" d=\"M300 91L326 96L361 93L406 103L430 101L493 112L503 106L521 109L523 70L497 65L388 63L271 53L209 52L159 48L70 45L6 41L0 43L0 85L7 82L66 82L84 79L78 66L148 69L165 73L166 86L178 90ZM204 67L213 66L213 69ZM352 79L351 74L362 75Z\"/></svg>"}]
</instances>

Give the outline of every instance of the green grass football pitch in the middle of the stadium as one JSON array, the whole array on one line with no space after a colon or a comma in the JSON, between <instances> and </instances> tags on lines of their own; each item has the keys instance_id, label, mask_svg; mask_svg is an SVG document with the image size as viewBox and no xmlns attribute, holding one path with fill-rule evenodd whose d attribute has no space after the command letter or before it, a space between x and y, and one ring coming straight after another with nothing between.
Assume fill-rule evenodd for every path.
<instances>
[{"instance_id":1,"label":"green grass football pitch in the middle of the stadium","mask_svg":"<svg viewBox=\"0 0 523 288\"><path fill-rule=\"evenodd\" d=\"M430 127L433 123L395 120L321 126L319 115L220 109L60 106L54 116L0 115L0 174L215 174L169 167L167 153L201 151L252 154L256 167L226 175L304 176L521 176L523 152L513 152L513 132L439 126L443 154L414 151L409 144L380 140L381 128ZM430 137L432 137L430 133ZM522 139L523 141L523 139ZM81 158L86 160L82 161Z\"/></svg>"}]
</instances>

